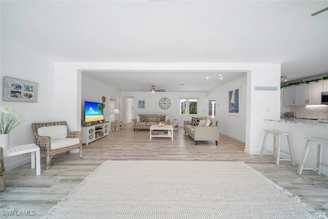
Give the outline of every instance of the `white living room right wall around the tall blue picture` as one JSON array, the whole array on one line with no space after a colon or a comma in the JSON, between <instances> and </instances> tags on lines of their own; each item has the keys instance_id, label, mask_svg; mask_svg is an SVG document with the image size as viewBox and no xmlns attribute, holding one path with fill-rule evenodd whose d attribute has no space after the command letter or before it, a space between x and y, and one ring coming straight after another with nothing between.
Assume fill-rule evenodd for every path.
<instances>
[{"instance_id":1,"label":"white living room right wall around the tall blue picture","mask_svg":"<svg viewBox=\"0 0 328 219\"><path fill-rule=\"evenodd\" d=\"M228 115L228 92L236 86L240 86L239 115ZM244 77L215 89L216 118L219 121L220 132L241 142L245 142L246 133L246 88L247 75L245 73Z\"/></svg>"}]
</instances>

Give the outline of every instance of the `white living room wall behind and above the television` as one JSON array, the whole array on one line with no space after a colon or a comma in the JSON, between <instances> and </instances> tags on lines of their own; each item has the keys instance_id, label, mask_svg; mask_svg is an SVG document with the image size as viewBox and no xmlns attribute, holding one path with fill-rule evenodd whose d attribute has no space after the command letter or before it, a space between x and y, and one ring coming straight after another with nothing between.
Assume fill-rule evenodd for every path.
<instances>
[{"instance_id":1,"label":"white living room wall behind and above the television","mask_svg":"<svg viewBox=\"0 0 328 219\"><path fill-rule=\"evenodd\" d=\"M84 116L84 102L99 102L103 103L101 100L102 96L106 97L104 116L106 121L114 121L115 115L113 114L114 108L117 108L116 101L111 101L116 99L116 95L121 94L120 91L109 87L108 85L98 82L95 79L82 74L81 80L81 117ZM110 124L111 125L111 124Z\"/></svg>"}]
</instances>

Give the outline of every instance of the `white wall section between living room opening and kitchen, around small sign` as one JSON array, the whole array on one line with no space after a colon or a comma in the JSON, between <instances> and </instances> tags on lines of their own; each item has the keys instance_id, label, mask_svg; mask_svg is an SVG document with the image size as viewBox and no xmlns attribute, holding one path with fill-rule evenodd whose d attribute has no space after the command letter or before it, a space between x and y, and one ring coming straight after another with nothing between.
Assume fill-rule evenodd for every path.
<instances>
[{"instance_id":1,"label":"white wall section between living room opening and kitchen, around small sign","mask_svg":"<svg viewBox=\"0 0 328 219\"><path fill-rule=\"evenodd\" d=\"M264 118L280 118L280 72L281 66L278 64L259 64L247 73L247 153L260 153L265 129ZM255 90L255 86L277 87L277 90Z\"/></svg>"}]
</instances>

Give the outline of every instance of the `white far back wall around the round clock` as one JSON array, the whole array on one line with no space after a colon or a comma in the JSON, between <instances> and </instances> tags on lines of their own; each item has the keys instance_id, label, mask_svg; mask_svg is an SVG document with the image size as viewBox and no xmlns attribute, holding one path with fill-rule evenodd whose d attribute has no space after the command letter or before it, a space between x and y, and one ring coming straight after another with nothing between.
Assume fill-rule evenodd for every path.
<instances>
[{"instance_id":1,"label":"white far back wall around the round clock","mask_svg":"<svg viewBox=\"0 0 328 219\"><path fill-rule=\"evenodd\" d=\"M206 116L208 114L208 98L205 92L122 92L124 96L133 96L134 98L134 117L140 113L145 114L168 114L171 121L177 119L179 126L183 126L183 121L190 120L190 115L180 115L180 97L197 97L198 115ZM167 97L171 101L171 107L163 110L159 107L160 98ZM138 101L145 101L145 109L138 108Z\"/></svg>"}]
</instances>

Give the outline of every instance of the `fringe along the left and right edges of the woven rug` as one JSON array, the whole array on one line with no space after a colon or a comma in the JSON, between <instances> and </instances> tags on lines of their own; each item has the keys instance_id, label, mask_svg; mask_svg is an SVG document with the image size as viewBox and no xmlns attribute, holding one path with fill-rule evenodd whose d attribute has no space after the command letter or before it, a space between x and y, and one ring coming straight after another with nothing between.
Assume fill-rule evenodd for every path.
<instances>
[{"instance_id":1,"label":"fringe along the left and right edges of the woven rug","mask_svg":"<svg viewBox=\"0 0 328 219\"><path fill-rule=\"evenodd\" d=\"M69 193L66 197L64 197L63 200L58 202L55 206L53 206L48 211L47 214L44 214L40 218L41 219L51 218L58 209L64 207L66 205L66 203L69 202L69 200L74 196L74 194L78 193L84 187L84 185L86 183L88 183L109 162L111 162L111 160L108 160L108 161L104 162L103 164L101 164L99 167L97 167L89 176L87 176L85 178L85 180L83 182L81 182L79 185L77 185L72 190L71 193ZM258 175L260 178L262 178L262 180L264 180L265 182L268 182L271 186L273 186L275 189L280 191L282 194L284 194L284 195L288 196L289 198L291 198L291 200L293 200L295 203L300 205L303 209L305 209L306 211L308 211L312 215L315 215L317 218L320 218L320 219L328 219L328 217L325 215L324 212L315 212L315 210L313 208L311 208L308 205L306 205L305 203L301 202L301 200L296 195L293 195L291 192L289 192L286 189L278 186L275 182L271 181L269 178L267 178L266 176L264 176L263 174L261 174L257 170L253 169L249 165L245 164L244 162L239 161L239 163L242 164L247 169L249 169L250 171L254 172L256 175Z\"/></svg>"}]
</instances>

